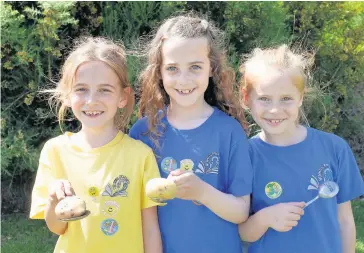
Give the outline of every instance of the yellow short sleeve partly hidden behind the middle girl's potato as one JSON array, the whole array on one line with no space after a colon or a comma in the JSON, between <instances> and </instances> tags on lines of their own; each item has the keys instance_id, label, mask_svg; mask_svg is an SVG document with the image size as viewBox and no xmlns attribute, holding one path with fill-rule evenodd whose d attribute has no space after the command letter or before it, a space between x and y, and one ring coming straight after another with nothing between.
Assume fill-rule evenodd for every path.
<instances>
[{"instance_id":1,"label":"yellow short sleeve partly hidden behind the middle girl's potato","mask_svg":"<svg viewBox=\"0 0 364 253\"><path fill-rule=\"evenodd\" d=\"M141 206L142 209L152 207L159 205L159 203L156 203L152 201L145 193L145 186L148 183L149 180L153 178L160 178L159 169L157 165L157 161L155 159L155 156L152 151L149 152L148 156L146 157L146 160L144 162L144 173L143 173L143 187L142 187L142 196L141 196Z\"/></svg>"}]
</instances>

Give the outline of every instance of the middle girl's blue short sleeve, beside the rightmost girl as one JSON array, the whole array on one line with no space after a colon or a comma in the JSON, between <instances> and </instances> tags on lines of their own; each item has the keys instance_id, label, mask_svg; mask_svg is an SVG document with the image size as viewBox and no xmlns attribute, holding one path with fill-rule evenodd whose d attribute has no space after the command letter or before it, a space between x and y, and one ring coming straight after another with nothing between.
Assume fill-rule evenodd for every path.
<instances>
[{"instance_id":1,"label":"middle girl's blue short sleeve, beside the rightmost girl","mask_svg":"<svg viewBox=\"0 0 364 253\"><path fill-rule=\"evenodd\" d=\"M229 156L228 193L241 197L252 192L253 169L244 131L239 131L234 139Z\"/></svg>"}]
</instances>

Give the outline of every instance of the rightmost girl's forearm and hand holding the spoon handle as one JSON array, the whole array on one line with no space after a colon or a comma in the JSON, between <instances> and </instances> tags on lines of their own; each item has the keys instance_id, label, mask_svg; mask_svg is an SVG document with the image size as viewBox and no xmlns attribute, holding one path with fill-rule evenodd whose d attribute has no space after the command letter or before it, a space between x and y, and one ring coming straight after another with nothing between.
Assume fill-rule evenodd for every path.
<instances>
[{"instance_id":1,"label":"rightmost girl's forearm and hand holding the spoon handle","mask_svg":"<svg viewBox=\"0 0 364 253\"><path fill-rule=\"evenodd\" d=\"M290 202L263 208L239 224L240 238L246 242L255 242L270 227L278 232L287 232L297 226L304 213L304 206L304 202Z\"/></svg>"}]
</instances>

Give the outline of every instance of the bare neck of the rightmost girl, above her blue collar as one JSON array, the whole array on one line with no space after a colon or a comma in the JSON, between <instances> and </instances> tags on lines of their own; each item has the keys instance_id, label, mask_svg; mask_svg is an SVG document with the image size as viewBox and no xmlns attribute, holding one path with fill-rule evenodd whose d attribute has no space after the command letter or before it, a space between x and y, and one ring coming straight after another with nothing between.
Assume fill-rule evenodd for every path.
<instances>
[{"instance_id":1,"label":"bare neck of the rightmost girl, above her blue collar","mask_svg":"<svg viewBox=\"0 0 364 253\"><path fill-rule=\"evenodd\" d=\"M301 125L295 125L282 134L269 134L266 131L260 133L260 138L272 145L289 146L300 143L307 136L307 129Z\"/></svg>"}]
</instances>

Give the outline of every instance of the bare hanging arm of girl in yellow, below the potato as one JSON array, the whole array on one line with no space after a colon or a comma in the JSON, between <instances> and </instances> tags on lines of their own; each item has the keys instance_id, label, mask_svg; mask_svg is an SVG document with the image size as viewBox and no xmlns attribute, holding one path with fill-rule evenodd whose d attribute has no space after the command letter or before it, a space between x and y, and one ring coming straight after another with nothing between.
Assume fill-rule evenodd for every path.
<instances>
[{"instance_id":1,"label":"bare hanging arm of girl in yellow, below the potato","mask_svg":"<svg viewBox=\"0 0 364 253\"><path fill-rule=\"evenodd\" d=\"M142 209L143 242L145 253L162 253L157 207Z\"/></svg>"}]
</instances>

